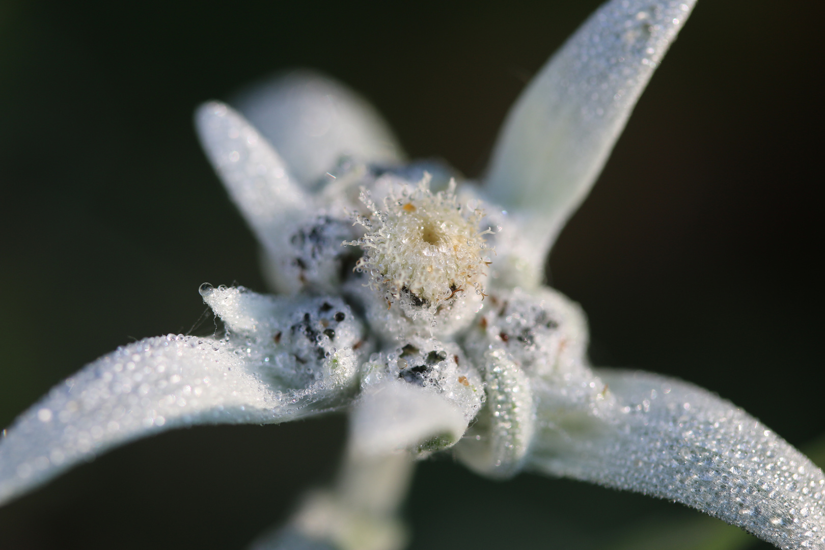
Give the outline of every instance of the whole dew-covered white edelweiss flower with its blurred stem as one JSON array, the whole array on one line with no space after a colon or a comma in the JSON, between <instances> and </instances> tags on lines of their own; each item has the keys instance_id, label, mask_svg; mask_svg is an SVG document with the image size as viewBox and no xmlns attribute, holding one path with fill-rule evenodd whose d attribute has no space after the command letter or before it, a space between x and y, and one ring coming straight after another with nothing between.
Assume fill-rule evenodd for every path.
<instances>
[{"instance_id":1,"label":"whole dew-covered white edelweiss flower with its blurred stem","mask_svg":"<svg viewBox=\"0 0 825 550\"><path fill-rule=\"evenodd\" d=\"M200 287L222 338L121 347L0 441L0 502L172 427L351 412L337 484L254 548L402 548L414 461L439 451L681 501L780 548L825 548L825 476L730 402L594 369L575 303L541 284L693 0L612 0L517 102L483 181L404 164L357 96L292 73L196 115L279 294Z\"/></svg>"}]
</instances>

